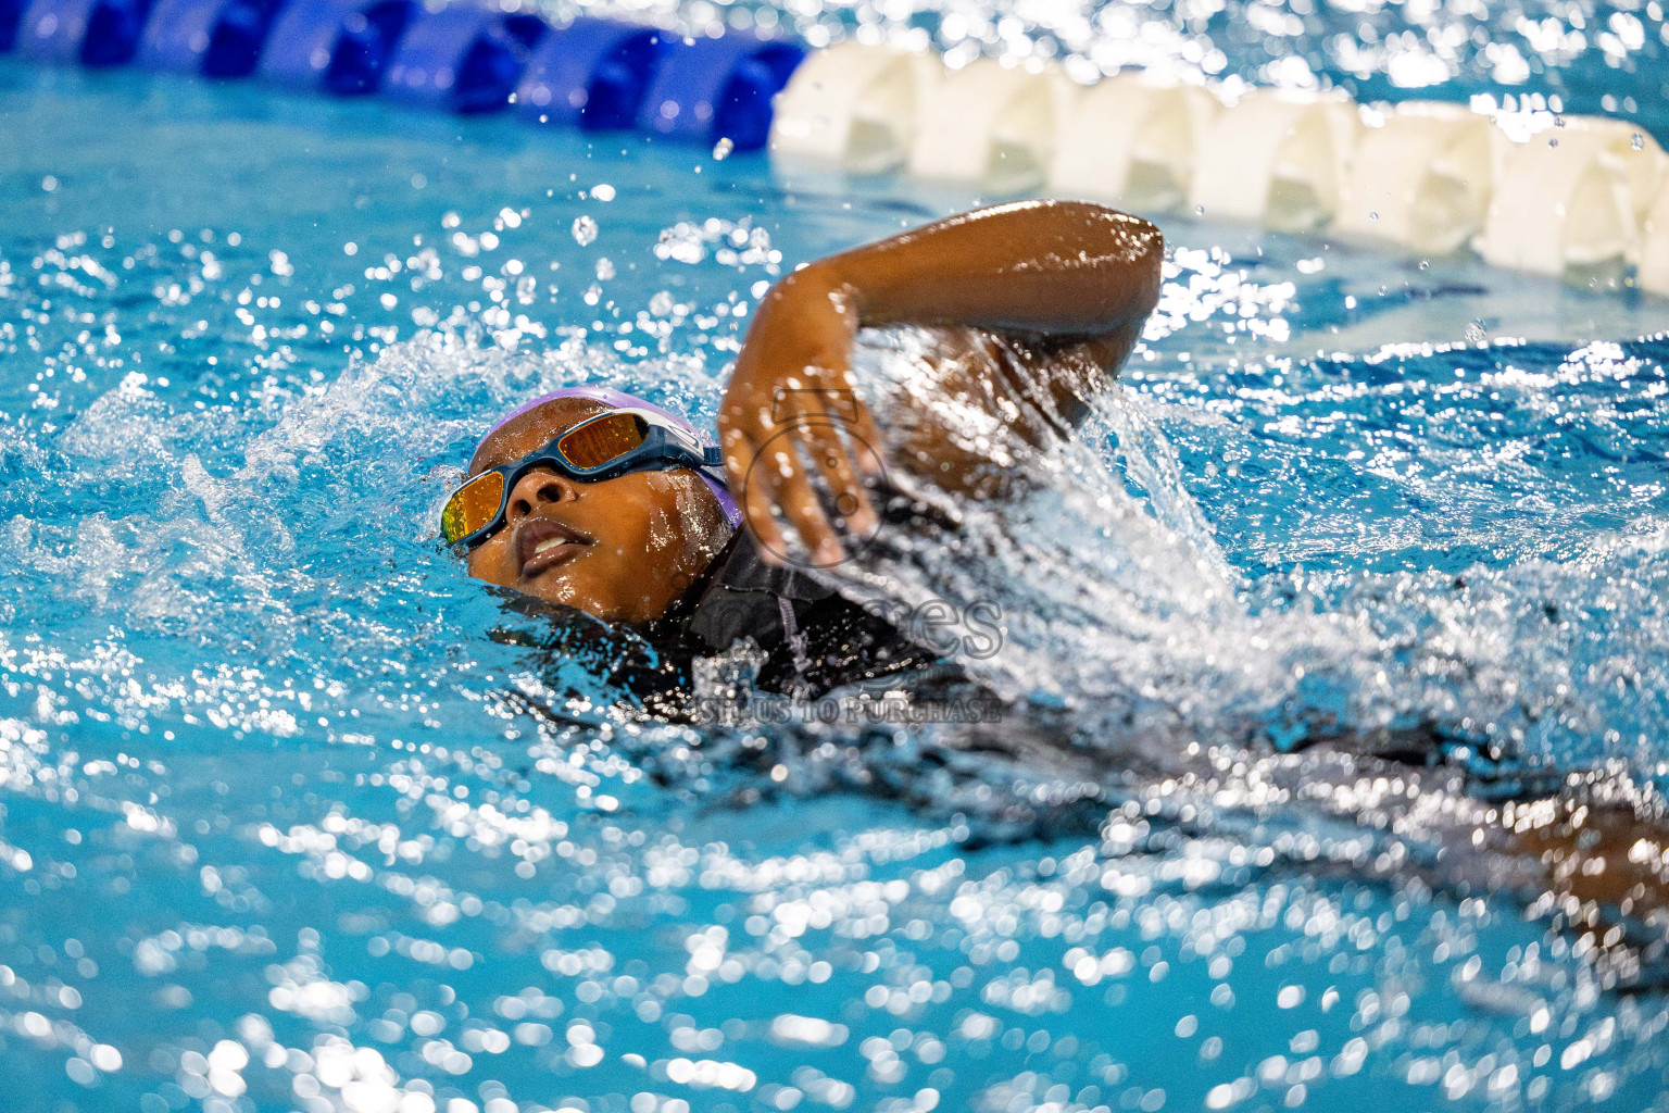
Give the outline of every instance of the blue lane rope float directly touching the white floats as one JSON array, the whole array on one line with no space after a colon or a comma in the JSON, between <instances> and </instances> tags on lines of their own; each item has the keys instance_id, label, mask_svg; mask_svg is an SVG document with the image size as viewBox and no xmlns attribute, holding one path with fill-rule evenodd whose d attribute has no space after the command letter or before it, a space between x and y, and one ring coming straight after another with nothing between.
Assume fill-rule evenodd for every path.
<instances>
[{"instance_id":1,"label":"blue lane rope float directly touching the white floats","mask_svg":"<svg viewBox=\"0 0 1669 1113\"><path fill-rule=\"evenodd\" d=\"M638 127L651 135L758 150L771 135L771 98L806 57L798 43L738 33L673 42Z\"/></svg>"}]
</instances>

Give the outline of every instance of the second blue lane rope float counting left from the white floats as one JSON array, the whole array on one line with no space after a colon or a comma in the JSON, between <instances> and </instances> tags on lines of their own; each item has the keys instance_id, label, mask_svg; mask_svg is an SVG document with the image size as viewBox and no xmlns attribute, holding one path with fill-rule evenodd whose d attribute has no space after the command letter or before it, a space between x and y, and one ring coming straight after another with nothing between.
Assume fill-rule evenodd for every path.
<instances>
[{"instance_id":1,"label":"second blue lane rope float counting left from the white floats","mask_svg":"<svg viewBox=\"0 0 1669 1113\"><path fill-rule=\"evenodd\" d=\"M653 27L589 18L552 27L527 62L516 108L539 123L629 128L664 50Z\"/></svg>"}]
</instances>

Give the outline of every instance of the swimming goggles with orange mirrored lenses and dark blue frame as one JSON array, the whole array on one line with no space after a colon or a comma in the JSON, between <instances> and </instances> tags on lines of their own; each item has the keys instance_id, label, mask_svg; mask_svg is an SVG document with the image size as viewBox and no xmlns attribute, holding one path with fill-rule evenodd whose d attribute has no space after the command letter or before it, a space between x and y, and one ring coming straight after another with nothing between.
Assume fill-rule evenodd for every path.
<instances>
[{"instance_id":1,"label":"swimming goggles with orange mirrored lenses and dark blue frame","mask_svg":"<svg viewBox=\"0 0 1669 1113\"><path fill-rule=\"evenodd\" d=\"M537 467L576 482L603 482L628 472L673 467L693 467L699 472L721 466L723 452L716 446L703 446L658 414L609 410L587 417L537 452L471 477L446 501L441 537L449 546L474 547L502 529L511 491ZM709 479L706 472L701 474Z\"/></svg>"}]
</instances>

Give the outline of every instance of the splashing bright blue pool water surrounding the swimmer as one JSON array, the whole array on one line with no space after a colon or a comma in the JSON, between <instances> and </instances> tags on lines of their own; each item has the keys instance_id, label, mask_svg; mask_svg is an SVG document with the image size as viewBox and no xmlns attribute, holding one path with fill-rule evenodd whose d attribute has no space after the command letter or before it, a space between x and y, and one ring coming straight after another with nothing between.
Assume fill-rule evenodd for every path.
<instances>
[{"instance_id":1,"label":"splashing bright blue pool water surrounding the swimmer","mask_svg":"<svg viewBox=\"0 0 1669 1113\"><path fill-rule=\"evenodd\" d=\"M1661 12L1198 7L1001 38L1669 125ZM1669 304L1167 220L1070 482L883 569L996 596L981 676L1070 744L552 726L591 681L431 536L486 422L711 415L763 284L976 199L13 63L0 128L5 1108L1666 1108L1669 1003L1469 888L1464 796L1240 728L1669 779ZM1439 868L1369 868L1387 816Z\"/></svg>"}]
</instances>

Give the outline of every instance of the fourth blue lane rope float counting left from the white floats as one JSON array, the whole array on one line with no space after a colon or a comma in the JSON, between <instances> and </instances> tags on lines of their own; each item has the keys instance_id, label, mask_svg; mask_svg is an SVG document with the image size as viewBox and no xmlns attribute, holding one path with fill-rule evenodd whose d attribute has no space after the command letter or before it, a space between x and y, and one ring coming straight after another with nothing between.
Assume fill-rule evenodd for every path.
<instances>
[{"instance_id":1,"label":"fourth blue lane rope float counting left from the white floats","mask_svg":"<svg viewBox=\"0 0 1669 1113\"><path fill-rule=\"evenodd\" d=\"M272 27L259 73L339 97L372 93L416 7L409 0L292 0Z\"/></svg>"}]
</instances>

